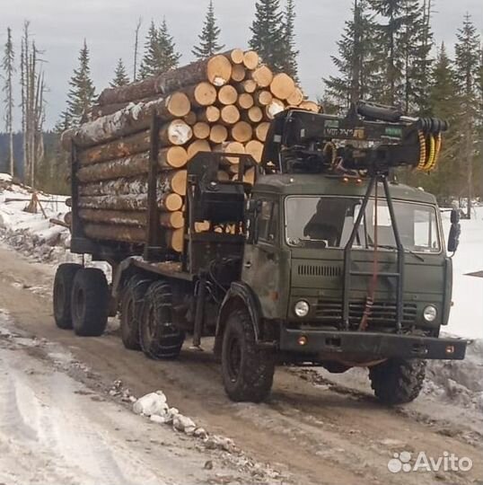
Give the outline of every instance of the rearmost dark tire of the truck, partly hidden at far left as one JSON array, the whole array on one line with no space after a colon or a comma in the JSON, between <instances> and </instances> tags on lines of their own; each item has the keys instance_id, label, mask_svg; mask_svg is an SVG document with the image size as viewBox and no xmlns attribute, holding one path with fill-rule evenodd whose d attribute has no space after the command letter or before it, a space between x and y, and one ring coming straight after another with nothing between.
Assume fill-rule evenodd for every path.
<instances>
[{"instance_id":1,"label":"rearmost dark tire of the truck, partly hidden at far left","mask_svg":"<svg viewBox=\"0 0 483 485\"><path fill-rule=\"evenodd\" d=\"M80 264L61 264L56 271L54 279L54 318L56 325L62 330L72 330L72 287L75 274L82 266Z\"/></svg>"}]
</instances>

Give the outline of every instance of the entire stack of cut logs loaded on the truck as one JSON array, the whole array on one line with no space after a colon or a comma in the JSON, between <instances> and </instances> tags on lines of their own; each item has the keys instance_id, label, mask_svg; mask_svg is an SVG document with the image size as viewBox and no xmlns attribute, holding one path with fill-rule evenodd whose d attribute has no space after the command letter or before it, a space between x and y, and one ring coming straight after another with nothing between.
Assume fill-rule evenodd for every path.
<instances>
[{"instance_id":1,"label":"entire stack of cut logs loaded on the truck","mask_svg":"<svg viewBox=\"0 0 483 485\"><path fill-rule=\"evenodd\" d=\"M288 107L319 112L285 74L234 49L143 81L101 93L90 120L63 134L75 145L78 209L83 230L97 240L145 242L153 115L159 133L158 207L167 248L182 251L187 163L199 152L226 154L219 179L238 172L237 158L261 161L270 121ZM246 180L253 180L253 171ZM67 216L67 218L71 218ZM200 226L200 230L206 227Z\"/></svg>"}]
</instances>

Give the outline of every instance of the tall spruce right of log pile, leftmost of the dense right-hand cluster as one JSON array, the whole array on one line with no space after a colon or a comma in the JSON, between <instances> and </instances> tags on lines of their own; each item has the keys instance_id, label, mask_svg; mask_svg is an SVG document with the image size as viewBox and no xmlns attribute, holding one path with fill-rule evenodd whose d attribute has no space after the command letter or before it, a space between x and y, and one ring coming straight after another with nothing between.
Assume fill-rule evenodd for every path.
<instances>
[{"instance_id":1,"label":"tall spruce right of log pile, leftmost of the dense right-hand cluster","mask_svg":"<svg viewBox=\"0 0 483 485\"><path fill-rule=\"evenodd\" d=\"M373 15L366 0L355 0L352 12L337 43L338 57L332 56L339 74L324 79L326 97L338 112L346 111L351 102L373 97Z\"/></svg>"}]
</instances>

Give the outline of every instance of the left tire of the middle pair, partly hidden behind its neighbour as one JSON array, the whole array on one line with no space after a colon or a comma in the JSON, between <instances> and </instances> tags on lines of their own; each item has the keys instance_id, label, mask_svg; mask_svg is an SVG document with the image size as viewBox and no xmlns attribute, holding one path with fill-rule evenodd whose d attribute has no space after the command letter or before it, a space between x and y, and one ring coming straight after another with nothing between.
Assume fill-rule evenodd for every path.
<instances>
[{"instance_id":1,"label":"left tire of the middle pair, partly hidden behind its neighbour","mask_svg":"<svg viewBox=\"0 0 483 485\"><path fill-rule=\"evenodd\" d=\"M120 304L120 331L125 348L141 350L139 343L139 328L143 310L143 301L147 288L151 284L149 279L133 276L127 281Z\"/></svg>"}]
</instances>

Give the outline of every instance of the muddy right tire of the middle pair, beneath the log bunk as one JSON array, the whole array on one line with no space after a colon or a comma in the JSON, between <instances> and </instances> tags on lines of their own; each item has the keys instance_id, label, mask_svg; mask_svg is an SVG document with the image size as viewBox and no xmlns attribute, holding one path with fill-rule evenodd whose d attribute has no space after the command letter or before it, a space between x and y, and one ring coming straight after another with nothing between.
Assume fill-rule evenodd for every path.
<instances>
[{"instance_id":1,"label":"muddy right tire of the middle pair, beneath the log bunk","mask_svg":"<svg viewBox=\"0 0 483 485\"><path fill-rule=\"evenodd\" d=\"M139 331L139 343L145 355L155 360L180 356L184 331L172 322L171 287L165 281L154 282L145 295Z\"/></svg>"}]
</instances>

